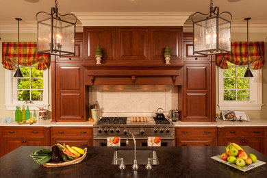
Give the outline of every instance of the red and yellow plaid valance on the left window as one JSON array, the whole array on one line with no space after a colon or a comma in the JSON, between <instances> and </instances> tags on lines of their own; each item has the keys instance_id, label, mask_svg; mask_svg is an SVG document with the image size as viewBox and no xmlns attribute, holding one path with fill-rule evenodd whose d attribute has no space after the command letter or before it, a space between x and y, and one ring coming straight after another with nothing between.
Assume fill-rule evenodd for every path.
<instances>
[{"instance_id":1,"label":"red and yellow plaid valance on the left window","mask_svg":"<svg viewBox=\"0 0 267 178\"><path fill-rule=\"evenodd\" d=\"M42 70L50 66L50 55L38 54L36 42L19 42L19 64L31 66L37 64L37 69ZM9 70L18 64L18 42L2 42L2 64Z\"/></svg>"}]
</instances>

